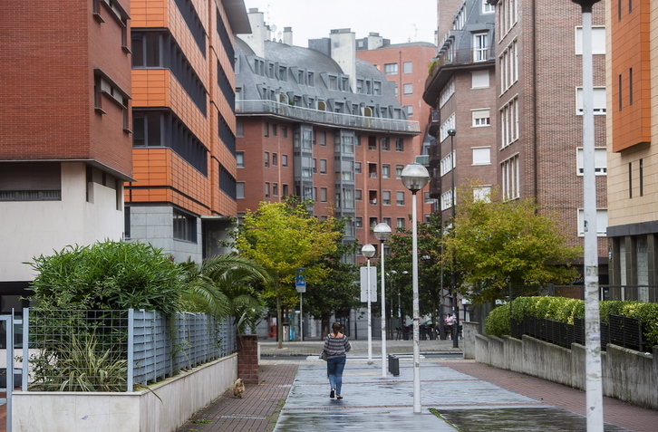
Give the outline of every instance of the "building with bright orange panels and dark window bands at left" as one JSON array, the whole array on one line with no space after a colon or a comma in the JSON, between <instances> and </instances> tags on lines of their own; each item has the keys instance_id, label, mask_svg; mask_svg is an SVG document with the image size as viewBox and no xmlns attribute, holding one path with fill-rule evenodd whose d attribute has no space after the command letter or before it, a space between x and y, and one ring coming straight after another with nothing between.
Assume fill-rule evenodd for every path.
<instances>
[{"instance_id":1,"label":"building with bright orange panels and dark window bands at left","mask_svg":"<svg viewBox=\"0 0 658 432\"><path fill-rule=\"evenodd\" d=\"M131 1L132 157L125 236L177 261L222 252L236 216L234 34L243 0Z\"/></svg>"}]
</instances>

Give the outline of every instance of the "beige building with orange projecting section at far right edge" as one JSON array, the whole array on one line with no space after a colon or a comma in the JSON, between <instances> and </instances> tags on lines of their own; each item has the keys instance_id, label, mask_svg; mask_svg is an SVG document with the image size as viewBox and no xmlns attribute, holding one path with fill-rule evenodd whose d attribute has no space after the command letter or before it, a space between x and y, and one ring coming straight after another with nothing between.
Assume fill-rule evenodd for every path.
<instances>
[{"instance_id":1,"label":"beige building with orange projecting section at far right edge","mask_svg":"<svg viewBox=\"0 0 658 432\"><path fill-rule=\"evenodd\" d=\"M658 52L651 43L658 37L658 4L650 0L614 0L599 8L604 6L609 30L606 84L610 283L657 285L658 149L654 146L658 128L652 113L658 109ZM649 300L646 288L627 286L626 290L636 290L625 293L626 298Z\"/></svg>"}]
</instances>

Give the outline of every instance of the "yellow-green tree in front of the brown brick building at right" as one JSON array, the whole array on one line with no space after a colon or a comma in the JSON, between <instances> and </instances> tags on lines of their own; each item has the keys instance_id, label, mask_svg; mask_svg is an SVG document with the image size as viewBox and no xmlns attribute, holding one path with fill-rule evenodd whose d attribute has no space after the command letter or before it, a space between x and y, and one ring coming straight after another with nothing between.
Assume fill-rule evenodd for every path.
<instances>
[{"instance_id":1,"label":"yellow-green tree in front of the brown brick building at right","mask_svg":"<svg viewBox=\"0 0 658 432\"><path fill-rule=\"evenodd\" d=\"M526 295L533 286L576 279L570 263L581 248L566 245L556 218L540 214L533 199L504 201L499 189L488 200L475 199L470 188L460 197L444 263L451 267L454 257L460 290L471 291L475 304L506 298L509 283L518 286L515 295Z\"/></svg>"}]
</instances>

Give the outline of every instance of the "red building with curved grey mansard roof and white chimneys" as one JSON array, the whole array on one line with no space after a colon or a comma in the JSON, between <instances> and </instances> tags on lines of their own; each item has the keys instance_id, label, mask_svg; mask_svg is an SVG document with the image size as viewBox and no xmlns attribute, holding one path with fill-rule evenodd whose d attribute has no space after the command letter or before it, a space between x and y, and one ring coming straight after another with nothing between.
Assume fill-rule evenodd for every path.
<instances>
[{"instance_id":1,"label":"red building with curved grey mansard roof and white chimneys","mask_svg":"<svg viewBox=\"0 0 658 432\"><path fill-rule=\"evenodd\" d=\"M334 30L303 48L288 27L273 42L257 9L249 19L254 32L239 35L236 55L238 214L295 195L314 199L316 216L351 217L346 242L377 245L379 222L408 226L400 174L419 154L419 124L356 57L354 34Z\"/></svg>"}]
</instances>

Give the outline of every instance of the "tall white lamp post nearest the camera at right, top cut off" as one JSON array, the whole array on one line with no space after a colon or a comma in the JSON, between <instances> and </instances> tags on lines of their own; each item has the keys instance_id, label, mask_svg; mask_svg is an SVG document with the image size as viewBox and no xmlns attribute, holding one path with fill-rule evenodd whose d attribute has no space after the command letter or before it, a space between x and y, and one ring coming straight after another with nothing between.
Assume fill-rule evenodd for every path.
<instances>
[{"instance_id":1,"label":"tall white lamp post nearest the camera at right, top cut off","mask_svg":"<svg viewBox=\"0 0 658 432\"><path fill-rule=\"evenodd\" d=\"M594 143L594 76L592 5L599 0L572 0L583 13L583 213L585 219L585 399L587 431L603 431L601 325L598 297L596 179Z\"/></svg>"}]
</instances>

